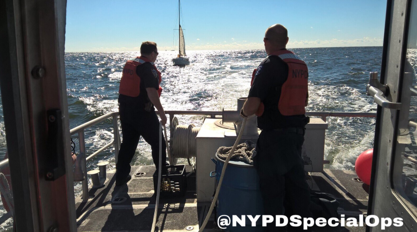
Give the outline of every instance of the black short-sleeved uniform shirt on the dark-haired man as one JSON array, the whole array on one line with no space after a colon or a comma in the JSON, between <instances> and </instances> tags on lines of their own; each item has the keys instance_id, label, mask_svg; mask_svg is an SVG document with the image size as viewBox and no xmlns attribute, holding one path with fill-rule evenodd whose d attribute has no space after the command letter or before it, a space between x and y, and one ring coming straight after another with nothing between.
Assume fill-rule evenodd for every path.
<instances>
[{"instance_id":1,"label":"black short-sleeved uniform shirt on the dark-haired man","mask_svg":"<svg viewBox=\"0 0 417 232\"><path fill-rule=\"evenodd\" d=\"M128 103L132 107L144 108L146 104L150 102L148 98L148 92L146 88L155 88L159 89L159 77L158 72L156 72L155 67L150 62L145 62L136 67L136 74L141 77L141 92L138 97L130 97L123 94L119 95L119 103ZM151 107L153 109L153 105Z\"/></svg>"}]
</instances>

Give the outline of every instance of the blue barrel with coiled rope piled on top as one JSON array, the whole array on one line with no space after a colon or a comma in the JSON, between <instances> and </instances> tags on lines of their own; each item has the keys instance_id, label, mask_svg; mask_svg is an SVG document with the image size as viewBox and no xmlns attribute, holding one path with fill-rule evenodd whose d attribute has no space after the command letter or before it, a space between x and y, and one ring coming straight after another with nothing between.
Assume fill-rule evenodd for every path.
<instances>
[{"instance_id":1,"label":"blue barrel with coiled rope piled on top","mask_svg":"<svg viewBox=\"0 0 417 232\"><path fill-rule=\"evenodd\" d=\"M220 180L224 160L216 155L216 187ZM214 160L213 160L214 161ZM263 215L261 191L259 189L259 176L253 165L238 160L231 160L221 184L219 198L217 199L217 217L232 215L241 218L242 215ZM262 217L262 216L261 216ZM245 226L239 224L236 227L229 225L226 231L230 232L263 232L261 217L256 222L256 227L251 226L251 221L245 216Z\"/></svg>"}]
</instances>

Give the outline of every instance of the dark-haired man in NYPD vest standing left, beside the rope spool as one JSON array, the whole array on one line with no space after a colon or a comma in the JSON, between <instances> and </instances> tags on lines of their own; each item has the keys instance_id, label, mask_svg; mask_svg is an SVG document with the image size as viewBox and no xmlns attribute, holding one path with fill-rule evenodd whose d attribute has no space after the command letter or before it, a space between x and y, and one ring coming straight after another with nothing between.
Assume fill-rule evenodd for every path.
<instances>
[{"instance_id":1,"label":"dark-haired man in NYPD vest standing left, beside the rope spool","mask_svg":"<svg viewBox=\"0 0 417 232\"><path fill-rule=\"evenodd\" d=\"M166 116L159 101L162 88L161 72L154 62L158 56L155 42L143 42L141 56L126 62L119 87L119 117L122 125L123 142L116 164L116 186L131 179L130 162L138 147L139 138L151 145L152 158L158 170L159 164L159 120L166 124ZM162 164L166 162L166 145L162 137ZM163 169L163 172L166 170Z\"/></svg>"}]
</instances>

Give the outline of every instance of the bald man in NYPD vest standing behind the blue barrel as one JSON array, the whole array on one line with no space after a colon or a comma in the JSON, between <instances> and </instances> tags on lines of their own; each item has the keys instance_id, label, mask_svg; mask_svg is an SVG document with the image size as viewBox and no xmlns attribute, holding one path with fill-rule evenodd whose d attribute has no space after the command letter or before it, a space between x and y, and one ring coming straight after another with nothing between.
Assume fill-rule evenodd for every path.
<instances>
[{"instance_id":1,"label":"bald man in NYPD vest standing behind the blue barrel","mask_svg":"<svg viewBox=\"0 0 417 232\"><path fill-rule=\"evenodd\" d=\"M305 181L301 146L308 118L308 70L301 58L286 50L287 30L280 24L265 32L268 55L252 75L242 117L256 114L262 130L254 166L259 174L266 215L311 217L310 193ZM288 231L302 231L288 227ZM269 223L266 231L285 231Z\"/></svg>"}]
</instances>

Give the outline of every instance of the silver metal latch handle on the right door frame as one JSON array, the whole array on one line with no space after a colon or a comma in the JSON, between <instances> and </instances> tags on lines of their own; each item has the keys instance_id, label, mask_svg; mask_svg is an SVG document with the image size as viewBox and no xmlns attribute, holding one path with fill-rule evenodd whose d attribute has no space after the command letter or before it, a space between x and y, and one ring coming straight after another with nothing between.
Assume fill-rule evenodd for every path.
<instances>
[{"instance_id":1,"label":"silver metal latch handle on the right door frame","mask_svg":"<svg viewBox=\"0 0 417 232\"><path fill-rule=\"evenodd\" d=\"M401 108L401 103L390 102L385 98L389 93L389 87L387 85L382 85L378 80L378 72L369 73L369 84L366 86L366 94L374 97L374 102L379 106L399 110Z\"/></svg>"}]
</instances>

